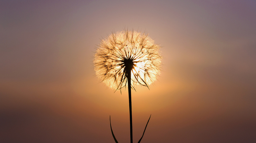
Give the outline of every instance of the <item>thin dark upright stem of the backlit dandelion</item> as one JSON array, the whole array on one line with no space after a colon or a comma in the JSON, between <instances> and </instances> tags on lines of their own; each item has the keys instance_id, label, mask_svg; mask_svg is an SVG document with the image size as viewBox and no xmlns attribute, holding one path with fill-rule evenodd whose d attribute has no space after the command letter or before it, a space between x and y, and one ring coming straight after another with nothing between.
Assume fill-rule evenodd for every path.
<instances>
[{"instance_id":1,"label":"thin dark upright stem of the backlit dandelion","mask_svg":"<svg viewBox=\"0 0 256 143\"><path fill-rule=\"evenodd\" d=\"M130 109L130 135L131 135L131 143L132 140L132 115L131 115L131 70L127 70L127 80L128 80L128 93L129 93L129 109Z\"/></svg>"}]
</instances>

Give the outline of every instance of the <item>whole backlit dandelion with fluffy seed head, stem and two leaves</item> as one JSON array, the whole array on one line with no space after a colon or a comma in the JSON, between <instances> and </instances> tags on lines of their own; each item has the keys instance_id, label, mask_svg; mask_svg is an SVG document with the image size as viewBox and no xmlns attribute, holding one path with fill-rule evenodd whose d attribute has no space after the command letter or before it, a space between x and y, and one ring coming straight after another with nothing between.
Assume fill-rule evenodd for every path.
<instances>
[{"instance_id":1,"label":"whole backlit dandelion with fluffy seed head, stem and two leaves","mask_svg":"<svg viewBox=\"0 0 256 143\"><path fill-rule=\"evenodd\" d=\"M148 87L156 81L161 70L162 57L159 48L160 46L154 44L154 40L147 34L124 30L112 33L106 39L103 39L94 55L93 63L96 76L102 82L115 91L121 91L122 88L128 87L131 143L133 143L131 88L135 90L136 85ZM147 125L145 130L146 128ZM112 127L111 133L116 143L118 143ZM140 143L142 137L138 143Z\"/></svg>"}]
</instances>

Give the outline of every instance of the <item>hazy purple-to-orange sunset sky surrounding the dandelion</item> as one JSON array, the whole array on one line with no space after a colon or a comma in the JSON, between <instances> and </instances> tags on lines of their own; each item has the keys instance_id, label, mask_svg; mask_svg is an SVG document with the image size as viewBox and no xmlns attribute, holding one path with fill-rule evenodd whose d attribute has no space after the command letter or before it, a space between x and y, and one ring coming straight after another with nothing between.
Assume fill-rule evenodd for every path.
<instances>
[{"instance_id":1,"label":"hazy purple-to-orange sunset sky surrounding the dandelion","mask_svg":"<svg viewBox=\"0 0 256 143\"><path fill-rule=\"evenodd\" d=\"M161 45L157 81L132 91L133 141L256 141L255 0L0 0L0 142L130 142L128 91L95 76L112 32Z\"/></svg>"}]
</instances>

